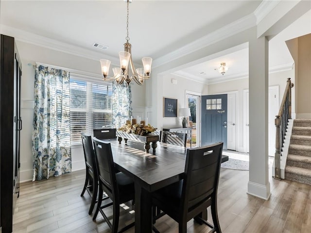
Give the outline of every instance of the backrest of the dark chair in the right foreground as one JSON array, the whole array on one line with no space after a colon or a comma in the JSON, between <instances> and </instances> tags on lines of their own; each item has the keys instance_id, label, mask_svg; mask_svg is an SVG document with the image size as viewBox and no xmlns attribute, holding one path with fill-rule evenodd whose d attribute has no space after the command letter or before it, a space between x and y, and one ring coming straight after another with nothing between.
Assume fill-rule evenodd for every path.
<instances>
[{"instance_id":1,"label":"backrest of the dark chair in the right foreground","mask_svg":"<svg viewBox=\"0 0 311 233\"><path fill-rule=\"evenodd\" d=\"M184 209L191 210L217 194L223 142L187 150L182 189Z\"/></svg>"}]
</instances>

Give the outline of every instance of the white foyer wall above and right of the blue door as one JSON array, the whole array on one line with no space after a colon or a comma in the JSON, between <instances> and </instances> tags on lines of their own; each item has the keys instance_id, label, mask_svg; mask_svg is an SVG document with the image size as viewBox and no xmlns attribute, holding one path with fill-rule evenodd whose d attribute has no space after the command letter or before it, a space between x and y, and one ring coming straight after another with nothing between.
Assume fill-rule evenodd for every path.
<instances>
[{"instance_id":1,"label":"white foyer wall above and right of the blue door","mask_svg":"<svg viewBox=\"0 0 311 233\"><path fill-rule=\"evenodd\" d=\"M284 90L286 87L287 78L294 80L294 69L281 71L269 74L269 86L279 87L279 104L282 101ZM294 83L294 81L293 81ZM244 152L244 141L243 141L243 92L248 90L248 78L239 79L235 81L229 81L225 83L215 83L208 85L208 95L226 93L236 91L237 94L237 150ZM294 95L292 96L294 102ZM292 108L294 109L294 108ZM294 110L293 110L294 111Z\"/></svg>"}]
</instances>

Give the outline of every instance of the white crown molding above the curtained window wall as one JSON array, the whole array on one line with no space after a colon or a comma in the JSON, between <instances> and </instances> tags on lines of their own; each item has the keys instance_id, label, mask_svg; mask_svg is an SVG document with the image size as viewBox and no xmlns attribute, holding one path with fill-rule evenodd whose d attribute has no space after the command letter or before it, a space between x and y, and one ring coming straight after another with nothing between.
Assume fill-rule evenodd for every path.
<instances>
[{"instance_id":1,"label":"white crown molding above the curtained window wall","mask_svg":"<svg viewBox=\"0 0 311 233\"><path fill-rule=\"evenodd\" d=\"M96 52L93 50L87 50L79 46L60 42L58 40L50 39L48 37L37 35L34 33L28 33L26 31L13 28L13 27L9 27L3 24L0 25L0 28L1 28L2 34L13 36L15 37L17 41L25 42L28 44L33 44L35 46L40 46L40 47L51 49L51 50L68 53L68 54L79 56L79 57L84 57L84 58L95 60L95 61L99 61L99 59L103 58L103 53L100 53L100 52ZM119 65L120 63L119 58L107 56L107 55L104 55L104 56L107 59L111 60L111 63L113 65L116 65L116 66Z\"/></svg>"}]
</instances>

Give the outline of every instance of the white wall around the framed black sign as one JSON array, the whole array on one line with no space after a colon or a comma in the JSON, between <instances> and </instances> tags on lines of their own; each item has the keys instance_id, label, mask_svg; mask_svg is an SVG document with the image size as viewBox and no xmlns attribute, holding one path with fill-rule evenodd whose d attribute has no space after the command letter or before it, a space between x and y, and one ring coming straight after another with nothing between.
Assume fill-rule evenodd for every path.
<instances>
[{"instance_id":1,"label":"white wall around the framed black sign","mask_svg":"<svg viewBox=\"0 0 311 233\"><path fill-rule=\"evenodd\" d=\"M172 79L177 83L173 84ZM163 101L163 97L169 97L177 99L177 117L163 117L163 128L165 127L181 127L181 117L178 117L178 111L180 108L186 107L186 91L201 93L207 95L208 86L203 83L198 83L190 79L182 78L173 74L167 74L163 76L163 96L158 96L158 100Z\"/></svg>"}]
</instances>

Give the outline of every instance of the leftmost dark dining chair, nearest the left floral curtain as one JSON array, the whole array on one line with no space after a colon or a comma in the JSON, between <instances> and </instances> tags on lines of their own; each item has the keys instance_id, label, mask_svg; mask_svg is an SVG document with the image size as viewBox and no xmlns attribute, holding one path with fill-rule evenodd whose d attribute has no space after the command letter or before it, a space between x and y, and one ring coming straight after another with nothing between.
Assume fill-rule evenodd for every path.
<instances>
[{"instance_id":1,"label":"leftmost dark dining chair, nearest the left floral curtain","mask_svg":"<svg viewBox=\"0 0 311 233\"><path fill-rule=\"evenodd\" d=\"M95 154L93 150L92 137L86 133L81 133L82 145L84 151L84 159L86 162L86 181L83 186L81 197L85 191L91 196L91 205L88 214L92 214L94 206L97 202L98 194L98 174L95 162Z\"/></svg>"}]
</instances>

